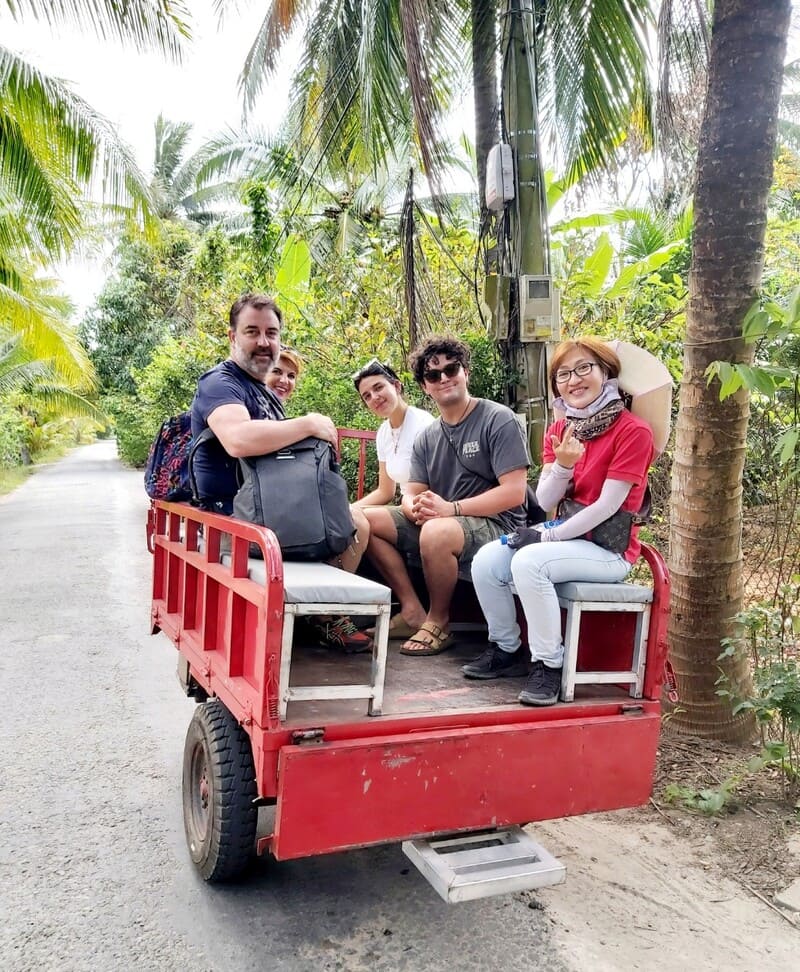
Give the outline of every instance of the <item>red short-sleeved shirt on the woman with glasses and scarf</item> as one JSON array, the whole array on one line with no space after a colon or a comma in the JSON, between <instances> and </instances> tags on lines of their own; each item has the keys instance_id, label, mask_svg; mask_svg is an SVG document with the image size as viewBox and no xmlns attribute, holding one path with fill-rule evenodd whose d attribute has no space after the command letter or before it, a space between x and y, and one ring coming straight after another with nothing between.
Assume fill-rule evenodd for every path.
<instances>
[{"instance_id":1,"label":"red short-sleeved shirt on the woman with glasses and scarf","mask_svg":"<svg viewBox=\"0 0 800 972\"><path fill-rule=\"evenodd\" d=\"M559 419L545 433L542 450L545 465L556 461L550 436L560 439L566 423L567 419ZM655 455L653 431L647 422L626 409L602 435L596 439L585 440L583 445L585 451L573 471L575 490L572 498L588 506L599 498L607 479L620 479L633 483L622 509L637 513L641 509L647 486L647 471ZM631 542L624 553L625 559L631 564L636 561L641 550L638 533L639 528L634 527L631 531Z\"/></svg>"}]
</instances>

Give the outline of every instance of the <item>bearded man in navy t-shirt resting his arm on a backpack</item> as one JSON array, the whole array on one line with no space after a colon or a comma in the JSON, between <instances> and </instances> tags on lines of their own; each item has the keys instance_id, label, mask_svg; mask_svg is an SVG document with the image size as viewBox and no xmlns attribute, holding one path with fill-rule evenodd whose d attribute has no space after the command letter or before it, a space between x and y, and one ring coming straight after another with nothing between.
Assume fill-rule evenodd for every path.
<instances>
[{"instance_id":1,"label":"bearded man in navy t-shirt resting his arm on a backpack","mask_svg":"<svg viewBox=\"0 0 800 972\"><path fill-rule=\"evenodd\" d=\"M327 415L310 412L287 419L280 398L265 384L280 357L283 315L271 297L244 294L231 307L229 357L197 383L192 401L192 435L210 428L215 438L203 442L194 457L197 493L203 509L230 515L238 490L237 460L277 452L308 436L337 446L336 426ZM356 540L335 560L335 566L355 571L369 537L369 524L353 512ZM316 626L324 643L346 652L370 651L371 639L349 618L320 619Z\"/></svg>"}]
</instances>

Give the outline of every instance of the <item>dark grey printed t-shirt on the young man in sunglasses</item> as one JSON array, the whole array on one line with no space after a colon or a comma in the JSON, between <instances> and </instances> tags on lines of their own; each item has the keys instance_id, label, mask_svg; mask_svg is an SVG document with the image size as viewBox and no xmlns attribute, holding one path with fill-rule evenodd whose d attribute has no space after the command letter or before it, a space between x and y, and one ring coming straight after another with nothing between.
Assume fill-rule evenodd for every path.
<instances>
[{"instance_id":1,"label":"dark grey printed t-shirt on the young man in sunglasses","mask_svg":"<svg viewBox=\"0 0 800 972\"><path fill-rule=\"evenodd\" d=\"M451 503L485 493L498 485L500 476L527 469L531 462L522 427L511 409L485 398L476 402L458 425L440 419L423 429L411 454L409 481L424 483ZM492 519L513 532L525 525L525 512L515 506Z\"/></svg>"}]
</instances>

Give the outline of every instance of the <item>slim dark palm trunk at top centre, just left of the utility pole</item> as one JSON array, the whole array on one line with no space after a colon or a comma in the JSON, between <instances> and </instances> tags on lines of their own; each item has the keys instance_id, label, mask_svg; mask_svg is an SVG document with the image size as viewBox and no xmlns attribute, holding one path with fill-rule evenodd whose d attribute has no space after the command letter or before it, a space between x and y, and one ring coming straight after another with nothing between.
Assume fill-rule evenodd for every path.
<instances>
[{"instance_id":1,"label":"slim dark palm trunk at top centre, just left of the utility pole","mask_svg":"<svg viewBox=\"0 0 800 972\"><path fill-rule=\"evenodd\" d=\"M472 0L472 85L478 200L486 205L486 156L497 142L497 28L495 0Z\"/></svg>"}]
</instances>

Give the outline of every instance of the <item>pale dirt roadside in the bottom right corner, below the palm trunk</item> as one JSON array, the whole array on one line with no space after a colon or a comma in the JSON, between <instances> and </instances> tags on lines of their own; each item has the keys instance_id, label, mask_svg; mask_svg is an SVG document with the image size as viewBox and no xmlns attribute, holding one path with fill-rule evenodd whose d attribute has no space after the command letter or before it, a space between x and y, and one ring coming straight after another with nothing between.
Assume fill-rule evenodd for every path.
<instances>
[{"instance_id":1,"label":"pale dirt roadside in the bottom right corner, below the palm trunk","mask_svg":"<svg viewBox=\"0 0 800 972\"><path fill-rule=\"evenodd\" d=\"M780 781L745 778L712 817L664 797L670 780L722 782L746 755L667 740L649 806L531 825L567 881L528 904L544 909L576 972L800 968L800 915L773 903L800 875L800 820Z\"/></svg>"}]
</instances>

